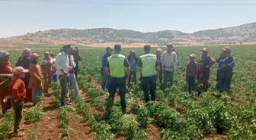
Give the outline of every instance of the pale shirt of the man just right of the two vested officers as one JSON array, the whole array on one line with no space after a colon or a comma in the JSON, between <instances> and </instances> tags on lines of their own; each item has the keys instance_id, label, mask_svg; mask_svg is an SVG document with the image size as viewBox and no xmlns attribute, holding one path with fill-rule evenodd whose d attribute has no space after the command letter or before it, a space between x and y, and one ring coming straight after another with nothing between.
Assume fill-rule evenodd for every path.
<instances>
[{"instance_id":1,"label":"pale shirt of the man just right of the two vested officers","mask_svg":"<svg viewBox=\"0 0 256 140\"><path fill-rule=\"evenodd\" d=\"M165 65L165 69L167 71L173 71L174 67L178 64L178 58L177 54L174 51L171 51L168 53L168 51L165 51L162 53L162 65Z\"/></svg>"}]
</instances>

